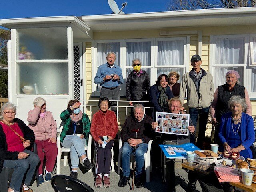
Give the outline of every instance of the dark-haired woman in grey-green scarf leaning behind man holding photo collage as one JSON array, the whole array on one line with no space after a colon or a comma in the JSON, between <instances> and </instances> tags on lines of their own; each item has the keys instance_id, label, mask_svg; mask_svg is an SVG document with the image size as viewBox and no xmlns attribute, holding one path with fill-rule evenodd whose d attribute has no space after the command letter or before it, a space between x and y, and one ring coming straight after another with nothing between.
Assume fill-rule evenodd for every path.
<instances>
[{"instance_id":1,"label":"dark-haired woman in grey-green scarf leaning behind man holding photo collage","mask_svg":"<svg viewBox=\"0 0 256 192\"><path fill-rule=\"evenodd\" d=\"M157 78L156 84L149 89L149 96L151 102L154 104L156 111L169 112L168 100L173 98L172 91L169 84L167 75L162 74Z\"/></svg>"}]
</instances>

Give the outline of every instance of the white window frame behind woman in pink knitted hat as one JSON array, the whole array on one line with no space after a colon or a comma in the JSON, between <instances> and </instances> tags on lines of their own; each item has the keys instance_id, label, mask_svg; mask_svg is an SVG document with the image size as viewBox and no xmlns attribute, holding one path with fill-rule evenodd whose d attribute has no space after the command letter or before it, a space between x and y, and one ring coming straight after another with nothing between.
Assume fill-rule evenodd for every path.
<instances>
[{"instance_id":1,"label":"white window frame behind woman in pink knitted hat","mask_svg":"<svg viewBox=\"0 0 256 192\"><path fill-rule=\"evenodd\" d=\"M210 36L210 57L209 57L209 69L212 73L213 78L216 77L215 68L216 67L243 67L244 68L244 79L240 80L240 85L245 86L249 97L250 98L256 98L256 92L251 92L251 68L252 66L250 63L248 63L249 58L249 46L250 42L252 41L251 36L255 36L256 34L238 34L238 35L211 35ZM243 64L215 64L215 54L216 54L216 39L217 38L244 38L244 63ZM249 41L250 40L250 41ZM253 60L252 60L253 61ZM249 68L248 68L249 66ZM255 65L254 65L255 66ZM241 83L242 82L242 83ZM217 88L216 85L215 89Z\"/></svg>"}]
</instances>

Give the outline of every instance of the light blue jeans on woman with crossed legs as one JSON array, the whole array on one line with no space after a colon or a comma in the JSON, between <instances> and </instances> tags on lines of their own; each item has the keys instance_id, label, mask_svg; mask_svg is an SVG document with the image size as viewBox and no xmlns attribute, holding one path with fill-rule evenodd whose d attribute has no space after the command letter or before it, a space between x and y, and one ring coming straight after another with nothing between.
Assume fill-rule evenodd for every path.
<instances>
[{"instance_id":1,"label":"light blue jeans on woman with crossed legs","mask_svg":"<svg viewBox=\"0 0 256 192\"><path fill-rule=\"evenodd\" d=\"M66 148L70 148L71 169L78 168L79 158L86 154L84 150L86 139L81 139L77 135L67 135L61 144Z\"/></svg>"}]
</instances>

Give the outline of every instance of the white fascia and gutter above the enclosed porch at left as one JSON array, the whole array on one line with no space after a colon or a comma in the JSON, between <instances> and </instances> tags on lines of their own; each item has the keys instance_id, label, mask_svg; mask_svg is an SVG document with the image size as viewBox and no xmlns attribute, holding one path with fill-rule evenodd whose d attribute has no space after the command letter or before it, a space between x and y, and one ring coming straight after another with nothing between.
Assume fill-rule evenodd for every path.
<instances>
[{"instance_id":1,"label":"white fascia and gutter above the enclosed porch at left","mask_svg":"<svg viewBox=\"0 0 256 192\"><path fill-rule=\"evenodd\" d=\"M0 26L12 28L20 25L29 24L49 24L49 23L72 23L76 27L89 31L90 27L78 19L76 16L57 16L57 17L34 17L34 18L15 18L15 19L1 19Z\"/></svg>"}]
</instances>

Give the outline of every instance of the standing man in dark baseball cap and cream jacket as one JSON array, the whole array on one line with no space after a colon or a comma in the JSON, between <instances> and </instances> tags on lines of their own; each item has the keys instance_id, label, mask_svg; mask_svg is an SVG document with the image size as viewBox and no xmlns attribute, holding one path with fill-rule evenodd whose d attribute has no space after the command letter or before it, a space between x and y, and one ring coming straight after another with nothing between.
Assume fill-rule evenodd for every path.
<instances>
[{"instance_id":1,"label":"standing man in dark baseball cap and cream jacket","mask_svg":"<svg viewBox=\"0 0 256 192\"><path fill-rule=\"evenodd\" d=\"M187 90L189 114L195 126L199 116L197 146L202 149L209 109L213 100L214 85L212 75L200 68L201 64L201 57L193 55L191 58L193 69L182 77L179 98L183 102ZM190 137L190 142L195 142L193 137Z\"/></svg>"}]
</instances>

